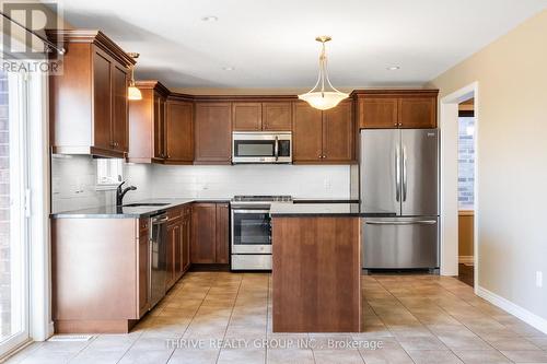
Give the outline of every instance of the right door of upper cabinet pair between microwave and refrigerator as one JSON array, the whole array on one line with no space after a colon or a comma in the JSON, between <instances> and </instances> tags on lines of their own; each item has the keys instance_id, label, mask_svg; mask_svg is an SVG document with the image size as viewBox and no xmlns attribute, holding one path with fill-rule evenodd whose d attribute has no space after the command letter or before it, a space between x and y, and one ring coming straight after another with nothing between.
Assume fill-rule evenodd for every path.
<instances>
[{"instance_id":1,"label":"right door of upper cabinet pair between microwave and refrigerator","mask_svg":"<svg viewBox=\"0 0 547 364\"><path fill-rule=\"evenodd\" d=\"M323 113L323 160L327 162L351 162L356 129L351 102L345 102Z\"/></svg>"}]
</instances>

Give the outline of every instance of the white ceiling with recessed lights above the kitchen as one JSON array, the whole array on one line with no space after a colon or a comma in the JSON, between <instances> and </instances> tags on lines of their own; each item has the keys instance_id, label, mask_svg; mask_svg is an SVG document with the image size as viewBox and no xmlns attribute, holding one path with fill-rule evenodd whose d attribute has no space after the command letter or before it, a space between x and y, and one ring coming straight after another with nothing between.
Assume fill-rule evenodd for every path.
<instances>
[{"instance_id":1,"label":"white ceiling with recessed lights above the kitchen","mask_svg":"<svg viewBox=\"0 0 547 364\"><path fill-rule=\"evenodd\" d=\"M333 36L335 86L420 85L547 8L547 0L59 2L73 26L140 52L138 79L170 87L311 87L322 34ZM218 21L201 21L207 15Z\"/></svg>"}]
</instances>

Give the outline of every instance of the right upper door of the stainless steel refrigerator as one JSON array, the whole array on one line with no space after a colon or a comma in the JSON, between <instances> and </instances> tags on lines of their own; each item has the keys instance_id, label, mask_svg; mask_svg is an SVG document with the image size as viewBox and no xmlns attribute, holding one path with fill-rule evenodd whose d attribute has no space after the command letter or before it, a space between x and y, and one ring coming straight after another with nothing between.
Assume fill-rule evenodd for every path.
<instances>
[{"instance_id":1,"label":"right upper door of the stainless steel refrigerator","mask_svg":"<svg viewBox=\"0 0 547 364\"><path fill-rule=\"evenodd\" d=\"M437 216L438 146L437 129L401 129L401 214Z\"/></svg>"}]
</instances>

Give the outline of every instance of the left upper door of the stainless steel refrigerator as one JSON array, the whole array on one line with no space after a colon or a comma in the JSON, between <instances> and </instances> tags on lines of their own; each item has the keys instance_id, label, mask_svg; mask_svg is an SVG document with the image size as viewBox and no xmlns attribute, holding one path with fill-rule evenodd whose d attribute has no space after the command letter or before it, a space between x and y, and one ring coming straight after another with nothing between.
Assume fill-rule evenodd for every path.
<instances>
[{"instance_id":1,"label":"left upper door of the stainless steel refrigerator","mask_svg":"<svg viewBox=\"0 0 547 364\"><path fill-rule=\"evenodd\" d=\"M400 131L361 131L361 203L400 214Z\"/></svg>"}]
</instances>

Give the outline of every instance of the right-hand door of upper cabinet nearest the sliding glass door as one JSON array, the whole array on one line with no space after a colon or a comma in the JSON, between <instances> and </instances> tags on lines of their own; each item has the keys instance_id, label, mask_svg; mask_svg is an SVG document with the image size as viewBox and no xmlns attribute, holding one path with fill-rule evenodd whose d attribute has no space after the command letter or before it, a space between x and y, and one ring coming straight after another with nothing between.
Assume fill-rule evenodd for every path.
<instances>
[{"instance_id":1,"label":"right-hand door of upper cabinet nearest the sliding glass door","mask_svg":"<svg viewBox=\"0 0 547 364\"><path fill-rule=\"evenodd\" d=\"M127 70L114 63L113 67L113 105L112 142L114 149L121 152L129 150L128 139L128 104L127 104Z\"/></svg>"}]
</instances>

